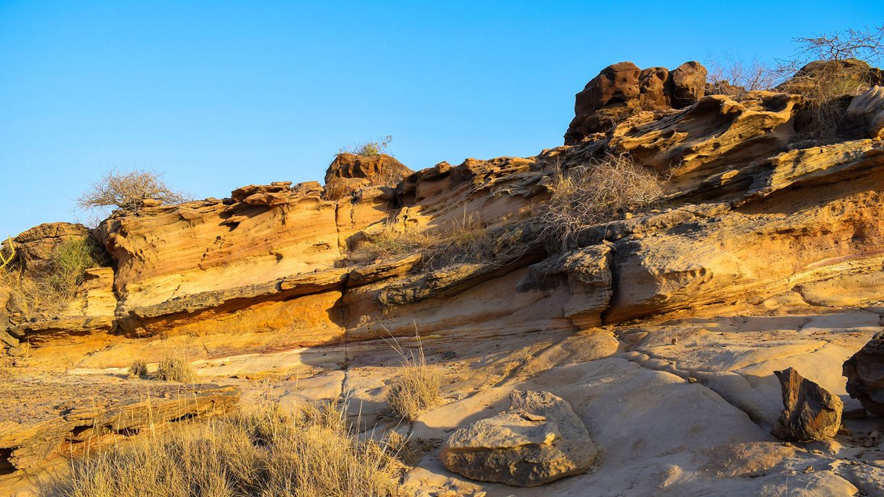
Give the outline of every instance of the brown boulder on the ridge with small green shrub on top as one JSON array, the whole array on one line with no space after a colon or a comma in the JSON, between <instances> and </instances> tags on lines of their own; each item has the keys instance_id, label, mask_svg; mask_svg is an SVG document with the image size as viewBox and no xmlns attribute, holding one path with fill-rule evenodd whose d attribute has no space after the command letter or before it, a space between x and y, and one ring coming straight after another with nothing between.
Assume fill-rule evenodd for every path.
<instances>
[{"instance_id":1,"label":"brown boulder on the ridge with small green shrub on top","mask_svg":"<svg viewBox=\"0 0 884 497\"><path fill-rule=\"evenodd\" d=\"M413 171L385 154L338 154L325 172L324 198L338 200L363 187L395 187Z\"/></svg>"}]
</instances>

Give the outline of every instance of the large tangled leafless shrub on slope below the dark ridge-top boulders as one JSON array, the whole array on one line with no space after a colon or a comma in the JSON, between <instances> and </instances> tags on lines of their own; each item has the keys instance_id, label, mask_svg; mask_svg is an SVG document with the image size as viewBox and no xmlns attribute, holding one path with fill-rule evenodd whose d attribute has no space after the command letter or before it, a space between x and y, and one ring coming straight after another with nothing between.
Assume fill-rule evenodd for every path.
<instances>
[{"instance_id":1,"label":"large tangled leafless shrub on slope below the dark ridge-top boulders","mask_svg":"<svg viewBox=\"0 0 884 497\"><path fill-rule=\"evenodd\" d=\"M552 250L562 250L581 229L612 221L620 211L648 209L662 196L659 176L628 156L593 160L555 175L538 215L541 233Z\"/></svg>"}]
</instances>

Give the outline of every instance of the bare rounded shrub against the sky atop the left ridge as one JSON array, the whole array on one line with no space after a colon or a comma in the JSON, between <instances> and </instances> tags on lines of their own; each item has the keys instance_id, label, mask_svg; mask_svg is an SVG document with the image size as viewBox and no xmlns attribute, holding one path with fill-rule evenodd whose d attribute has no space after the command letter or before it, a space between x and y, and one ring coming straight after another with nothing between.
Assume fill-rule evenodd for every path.
<instances>
[{"instance_id":1,"label":"bare rounded shrub against the sky atop the left ridge","mask_svg":"<svg viewBox=\"0 0 884 497\"><path fill-rule=\"evenodd\" d=\"M137 212L149 199L171 204L186 202L189 196L166 186L162 173L115 169L92 183L89 191L77 199L77 205L85 210L117 207L127 212Z\"/></svg>"}]
</instances>

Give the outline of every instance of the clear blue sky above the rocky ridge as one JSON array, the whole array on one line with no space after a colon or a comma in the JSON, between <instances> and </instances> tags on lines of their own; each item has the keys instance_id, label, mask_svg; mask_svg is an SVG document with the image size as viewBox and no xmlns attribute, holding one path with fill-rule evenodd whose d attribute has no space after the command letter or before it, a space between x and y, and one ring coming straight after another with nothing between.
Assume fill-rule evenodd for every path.
<instances>
[{"instance_id":1,"label":"clear blue sky above the rocky ridge","mask_svg":"<svg viewBox=\"0 0 884 497\"><path fill-rule=\"evenodd\" d=\"M884 2L0 0L0 235L72 220L112 167L197 198L322 180L392 134L412 169L560 145L606 65L788 56Z\"/></svg>"}]
</instances>

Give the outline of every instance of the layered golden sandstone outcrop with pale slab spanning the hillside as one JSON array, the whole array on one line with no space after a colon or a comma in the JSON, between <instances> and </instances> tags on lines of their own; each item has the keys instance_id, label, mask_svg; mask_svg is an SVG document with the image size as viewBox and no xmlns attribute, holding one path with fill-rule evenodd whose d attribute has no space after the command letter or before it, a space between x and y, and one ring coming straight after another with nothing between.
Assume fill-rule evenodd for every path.
<instances>
[{"instance_id":1,"label":"layered golden sandstone outcrop with pale slab spanning the hillside","mask_svg":"<svg viewBox=\"0 0 884 497\"><path fill-rule=\"evenodd\" d=\"M117 212L89 233L111 264L89 270L57 315L26 315L0 287L10 311L0 311L0 359L14 360L17 378L3 385L34 375L103 389L133 381L121 376L134 359L173 350L201 381L238 386L245 401L264 390L284 404L347 394L354 420L383 430L396 427L384 395L400 356L381 339L415 346L416 327L446 403L411 434L452 437L443 462L462 473L428 449L402 483L424 495L514 493L491 480L551 481L525 495L783 494L787 479L806 495L884 492L867 420L843 420L855 436L819 450L770 435L783 399L781 430L794 440L830 434L839 396L845 409L884 411L879 90L844 106L850 136L819 141L796 132L802 96L704 95L702 73L612 65L577 96L568 145L534 157L409 172L392 157L341 155L325 186L249 185L221 200ZM575 221L568 243L553 243L542 215L553 190L609 157L656 175L662 196L602 223ZM29 230L19 264L38 271L52 244L86 235ZM427 240L463 253L428 265L437 245ZM378 241L399 246L371 252ZM808 379L782 373L781 384L774 371L787 368ZM255 381L264 378L273 381ZM29 401L42 402L40 388ZM58 433L71 426L55 406L104 392L50 390L62 393L39 405ZM548 395L557 414L507 410L534 405L529 394L511 401L514 391L547 393L538 399ZM103 409L140 393L108 394L119 402ZM21 451L48 420L28 416L4 425L2 440L15 441L0 445L0 493L26 466L36 474L50 463L3 463L13 450L48 454ZM586 440L583 424L604 449L594 471L580 472L593 446L571 445ZM542 457L507 465L518 451ZM552 481L565 474L574 476Z\"/></svg>"}]
</instances>

